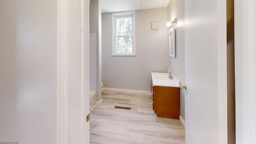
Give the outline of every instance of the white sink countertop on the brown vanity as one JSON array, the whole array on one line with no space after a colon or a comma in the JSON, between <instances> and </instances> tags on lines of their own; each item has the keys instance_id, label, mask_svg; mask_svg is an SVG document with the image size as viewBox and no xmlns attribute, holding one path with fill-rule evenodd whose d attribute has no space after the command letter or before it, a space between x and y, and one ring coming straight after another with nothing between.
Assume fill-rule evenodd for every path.
<instances>
[{"instance_id":1,"label":"white sink countertop on the brown vanity","mask_svg":"<svg viewBox=\"0 0 256 144\"><path fill-rule=\"evenodd\" d=\"M173 76L172 79L168 78L169 74L165 72L151 72L153 86L167 86L180 88L180 80Z\"/></svg>"}]
</instances>

